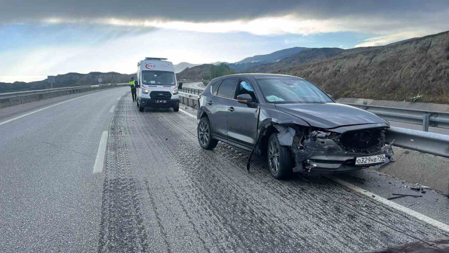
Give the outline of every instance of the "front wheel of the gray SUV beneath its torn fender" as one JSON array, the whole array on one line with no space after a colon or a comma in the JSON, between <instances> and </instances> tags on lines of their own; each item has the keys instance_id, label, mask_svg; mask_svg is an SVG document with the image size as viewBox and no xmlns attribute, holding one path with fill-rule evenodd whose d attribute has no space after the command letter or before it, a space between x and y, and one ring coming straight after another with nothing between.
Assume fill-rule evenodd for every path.
<instances>
[{"instance_id":1,"label":"front wheel of the gray SUV beneath its torn fender","mask_svg":"<svg viewBox=\"0 0 449 253\"><path fill-rule=\"evenodd\" d=\"M269 136L267 161L270 173L276 179L288 179L293 173L293 160L290 149L279 144L278 133Z\"/></svg>"}]
</instances>

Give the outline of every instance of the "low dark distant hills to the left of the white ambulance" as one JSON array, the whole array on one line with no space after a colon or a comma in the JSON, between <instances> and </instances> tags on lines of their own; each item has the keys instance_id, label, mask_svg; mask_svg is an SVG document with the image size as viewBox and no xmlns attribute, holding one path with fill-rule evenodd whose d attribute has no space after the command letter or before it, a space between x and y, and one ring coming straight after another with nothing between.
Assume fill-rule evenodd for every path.
<instances>
[{"instance_id":1,"label":"low dark distant hills to the left of the white ambulance","mask_svg":"<svg viewBox=\"0 0 449 253\"><path fill-rule=\"evenodd\" d=\"M69 86L84 86L98 84L98 78L102 78L102 84L118 84L129 82L131 77L135 74L120 74L116 72L90 72L88 74L67 73L58 74L55 77L55 84L53 88L69 87ZM36 89L50 89L51 85L47 79L37 82L14 82L14 83L0 83L0 93L15 92L15 91L31 91Z\"/></svg>"}]
</instances>

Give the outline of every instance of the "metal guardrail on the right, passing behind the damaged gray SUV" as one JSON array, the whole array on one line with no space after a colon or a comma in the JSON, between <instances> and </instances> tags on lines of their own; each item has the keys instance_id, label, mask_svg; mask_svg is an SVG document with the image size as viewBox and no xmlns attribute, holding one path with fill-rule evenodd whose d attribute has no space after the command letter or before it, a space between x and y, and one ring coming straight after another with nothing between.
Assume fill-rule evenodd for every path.
<instances>
[{"instance_id":1,"label":"metal guardrail on the right, passing behind the damaged gray SUV","mask_svg":"<svg viewBox=\"0 0 449 253\"><path fill-rule=\"evenodd\" d=\"M197 95L201 94L201 92L203 91L199 89L182 89L180 96L184 96L187 99L187 103L194 103L194 101L189 101L189 99L195 100ZM368 110L368 112L373 112L383 119L394 122L422 124L423 131L391 126L386 134L387 141L393 141L393 145L396 147L449 158L449 135L428 132L429 126L449 129L449 113L387 108L377 105L358 105L349 103L347 103L347 105Z\"/></svg>"}]
</instances>

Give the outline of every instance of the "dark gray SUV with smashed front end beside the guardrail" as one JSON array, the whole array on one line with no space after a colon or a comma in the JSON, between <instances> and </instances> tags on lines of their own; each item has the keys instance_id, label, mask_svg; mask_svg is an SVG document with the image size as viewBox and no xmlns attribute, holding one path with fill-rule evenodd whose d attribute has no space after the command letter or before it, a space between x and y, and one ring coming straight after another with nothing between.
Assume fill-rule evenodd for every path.
<instances>
[{"instance_id":1,"label":"dark gray SUV with smashed front end beside the guardrail","mask_svg":"<svg viewBox=\"0 0 449 253\"><path fill-rule=\"evenodd\" d=\"M311 82L280 74L213 79L199 97L198 141L218 141L267 157L276 179L293 172L335 174L391 158L389 123L335 101Z\"/></svg>"}]
</instances>

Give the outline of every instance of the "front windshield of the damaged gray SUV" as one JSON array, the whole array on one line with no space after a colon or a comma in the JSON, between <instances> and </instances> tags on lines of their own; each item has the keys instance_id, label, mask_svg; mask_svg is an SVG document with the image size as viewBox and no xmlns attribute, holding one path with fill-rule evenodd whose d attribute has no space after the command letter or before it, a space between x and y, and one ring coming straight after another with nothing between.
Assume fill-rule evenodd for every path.
<instances>
[{"instance_id":1,"label":"front windshield of the damaged gray SUV","mask_svg":"<svg viewBox=\"0 0 449 253\"><path fill-rule=\"evenodd\" d=\"M268 103L331 103L329 96L302 79L259 79L257 83Z\"/></svg>"}]
</instances>

